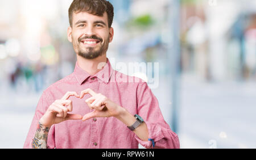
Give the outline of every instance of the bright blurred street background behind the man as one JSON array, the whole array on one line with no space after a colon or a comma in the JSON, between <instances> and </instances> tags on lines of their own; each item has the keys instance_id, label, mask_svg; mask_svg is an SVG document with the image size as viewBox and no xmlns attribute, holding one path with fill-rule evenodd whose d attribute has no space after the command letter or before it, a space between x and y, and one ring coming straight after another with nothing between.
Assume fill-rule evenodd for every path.
<instances>
[{"instance_id":1,"label":"bright blurred street background behind the man","mask_svg":"<svg viewBox=\"0 0 256 160\"><path fill-rule=\"evenodd\" d=\"M256 148L256 1L110 2L107 57L159 63L152 91L181 148ZM0 0L0 148L23 147L43 90L73 72L71 3Z\"/></svg>"}]
</instances>

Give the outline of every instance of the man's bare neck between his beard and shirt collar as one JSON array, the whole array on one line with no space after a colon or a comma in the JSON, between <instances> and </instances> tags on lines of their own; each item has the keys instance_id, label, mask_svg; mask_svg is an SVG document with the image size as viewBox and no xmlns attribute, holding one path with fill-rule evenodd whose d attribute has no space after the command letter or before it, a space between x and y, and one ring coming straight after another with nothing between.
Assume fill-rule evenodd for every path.
<instances>
[{"instance_id":1,"label":"man's bare neck between his beard and shirt collar","mask_svg":"<svg viewBox=\"0 0 256 160\"><path fill-rule=\"evenodd\" d=\"M98 64L100 64L102 62L104 62L104 63L107 62L106 54L103 54L102 56L94 58L93 60L88 60L84 57L77 55L77 63L79 65L79 67L82 70L85 70L90 75L94 75L94 74L98 73L98 71L100 71L104 67L102 65L100 68L98 67Z\"/></svg>"}]
</instances>

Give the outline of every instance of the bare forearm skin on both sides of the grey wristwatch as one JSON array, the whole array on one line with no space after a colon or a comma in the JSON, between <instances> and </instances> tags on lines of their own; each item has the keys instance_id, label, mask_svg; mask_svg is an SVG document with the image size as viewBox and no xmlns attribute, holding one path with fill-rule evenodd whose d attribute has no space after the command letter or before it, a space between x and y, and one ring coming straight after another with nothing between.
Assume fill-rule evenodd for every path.
<instances>
[{"instance_id":1,"label":"bare forearm skin on both sides of the grey wristwatch","mask_svg":"<svg viewBox=\"0 0 256 160\"><path fill-rule=\"evenodd\" d=\"M122 123L124 123L126 126L131 126L135 123L136 118L131 115L130 112L128 112L127 110L125 110L125 108L123 108L122 112L116 116L116 118L120 121L122 121ZM142 141L148 141L148 129L147 129L147 125L146 123L142 123L141 125L139 125L139 127L137 127L136 129L133 130L133 132L142 140Z\"/></svg>"}]
</instances>

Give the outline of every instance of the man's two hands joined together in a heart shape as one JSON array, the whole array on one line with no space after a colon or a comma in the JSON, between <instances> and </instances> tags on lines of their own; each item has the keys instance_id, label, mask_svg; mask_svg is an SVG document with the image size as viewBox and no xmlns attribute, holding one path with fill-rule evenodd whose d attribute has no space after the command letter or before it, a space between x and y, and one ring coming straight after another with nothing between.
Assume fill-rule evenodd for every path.
<instances>
[{"instance_id":1,"label":"man's two hands joined together in a heart shape","mask_svg":"<svg viewBox=\"0 0 256 160\"><path fill-rule=\"evenodd\" d=\"M90 98L86 99L85 102L94 111L86 113L83 117L76 113L68 113L73 110L72 100L68 98L70 96L76 96L82 99L85 94L92 95ZM106 98L106 96L97 94L91 89L81 91L80 95L75 91L68 91L63 98L55 100L55 102L48 107L46 113L40 118L40 123L46 127L51 127L51 125L61 123L65 120L85 121L94 117L117 116L120 111L122 111L121 108L122 107L112 102L112 100Z\"/></svg>"}]
</instances>

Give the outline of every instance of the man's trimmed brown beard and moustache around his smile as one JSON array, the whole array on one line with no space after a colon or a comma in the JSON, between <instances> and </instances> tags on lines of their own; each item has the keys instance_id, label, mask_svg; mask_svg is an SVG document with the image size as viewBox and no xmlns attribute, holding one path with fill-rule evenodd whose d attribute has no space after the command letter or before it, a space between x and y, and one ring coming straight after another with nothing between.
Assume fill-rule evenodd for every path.
<instances>
[{"instance_id":1,"label":"man's trimmed brown beard and moustache around his smile","mask_svg":"<svg viewBox=\"0 0 256 160\"><path fill-rule=\"evenodd\" d=\"M99 40L100 41L99 42L100 46L98 46L98 44L97 44L97 46L95 46L95 47L86 47L85 48L81 44L82 43L81 40L83 40L83 39L96 39L96 40ZM83 37L80 37L78 39L78 43L77 44L73 43L73 48L75 49L76 53L79 56L84 57L84 58L89 59L89 60L92 60L94 58L102 56L108 50L108 48L109 48L109 37L108 37L108 39L106 39L106 41L103 44L101 44L102 41L103 40L100 37L97 37L95 35L90 36L90 37L83 36Z\"/></svg>"}]
</instances>

